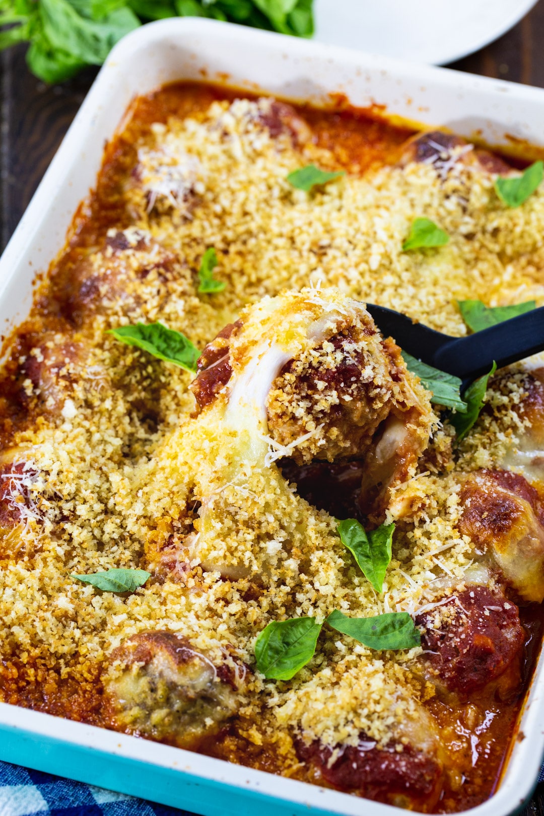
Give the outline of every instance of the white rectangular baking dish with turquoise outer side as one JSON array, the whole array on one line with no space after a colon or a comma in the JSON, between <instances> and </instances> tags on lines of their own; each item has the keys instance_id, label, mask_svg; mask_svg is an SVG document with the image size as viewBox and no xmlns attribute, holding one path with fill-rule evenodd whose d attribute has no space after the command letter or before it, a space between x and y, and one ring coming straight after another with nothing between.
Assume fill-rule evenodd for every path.
<instances>
[{"instance_id":1,"label":"white rectangular baking dish with turquoise outer side","mask_svg":"<svg viewBox=\"0 0 544 816\"><path fill-rule=\"evenodd\" d=\"M95 184L104 148L136 94L163 82L210 79L299 100L384 104L387 112L490 144L506 134L542 146L544 91L404 64L210 20L163 20L110 55L0 259L0 326L28 312L35 274L62 249L77 204ZM530 795L544 754L540 660L498 792L471 810L506 816ZM0 758L194 810L206 816L365 814L396 809L210 757L0 703Z\"/></svg>"}]
</instances>

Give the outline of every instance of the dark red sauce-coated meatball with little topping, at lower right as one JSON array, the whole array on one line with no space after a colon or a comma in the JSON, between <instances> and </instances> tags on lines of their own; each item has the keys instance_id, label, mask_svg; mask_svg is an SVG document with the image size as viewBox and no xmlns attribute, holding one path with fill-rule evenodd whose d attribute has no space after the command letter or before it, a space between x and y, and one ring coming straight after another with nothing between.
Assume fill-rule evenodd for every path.
<instances>
[{"instance_id":1,"label":"dark red sauce-coated meatball with little topping, at lower right","mask_svg":"<svg viewBox=\"0 0 544 816\"><path fill-rule=\"evenodd\" d=\"M416 617L424 628L418 662L442 696L466 698L489 684L502 697L519 689L524 630L514 603L474 584L431 607Z\"/></svg>"}]
</instances>

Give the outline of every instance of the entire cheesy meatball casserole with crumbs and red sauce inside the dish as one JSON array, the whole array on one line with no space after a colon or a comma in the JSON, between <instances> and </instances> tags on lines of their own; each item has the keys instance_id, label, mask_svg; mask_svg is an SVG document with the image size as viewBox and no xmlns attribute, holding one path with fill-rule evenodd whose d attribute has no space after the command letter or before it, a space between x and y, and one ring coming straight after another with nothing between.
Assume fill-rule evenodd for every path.
<instances>
[{"instance_id":1,"label":"entire cheesy meatball casserole with crumbs and red sauce inside the dish","mask_svg":"<svg viewBox=\"0 0 544 816\"><path fill-rule=\"evenodd\" d=\"M451 335L544 304L516 173L371 112L135 101L2 369L2 700L428 813L493 793L542 635L544 360L460 433L365 304ZM421 218L447 240L406 248Z\"/></svg>"}]
</instances>

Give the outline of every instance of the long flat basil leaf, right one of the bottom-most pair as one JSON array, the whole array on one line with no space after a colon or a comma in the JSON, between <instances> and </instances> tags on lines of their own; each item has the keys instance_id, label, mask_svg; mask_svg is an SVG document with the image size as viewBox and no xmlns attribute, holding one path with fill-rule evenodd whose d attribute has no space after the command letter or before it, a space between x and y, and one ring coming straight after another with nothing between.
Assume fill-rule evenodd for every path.
<instances>
[{"instance_id":1,"label":"long flat basil leaf, right one of the bottom-most pair","mask_svg":"<svg viewBox=\"0 0 544 816\"><path fill-rule=\"evenodd\" d=\"M413 649L421 644L421 634L408 612L384 612L373 618L348 618L334 610L329 614L327 623L369 649Z\"/></svg>"}]
</instances>

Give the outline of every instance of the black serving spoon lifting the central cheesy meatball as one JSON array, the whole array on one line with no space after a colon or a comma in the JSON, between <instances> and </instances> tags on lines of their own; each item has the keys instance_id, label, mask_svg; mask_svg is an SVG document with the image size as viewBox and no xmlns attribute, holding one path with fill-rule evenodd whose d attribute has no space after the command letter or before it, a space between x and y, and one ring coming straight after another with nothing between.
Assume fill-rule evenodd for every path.
<instances>
[{"instance_id":1,"label":"black serving spoon lifting the central cheesy meatball","mask_svg":"<svg viewBox=\"0 0 544 816\"><path fill-rule=\"evenodd\" d=\"M502 368L544 351L544 306L467 337L443 335L384 306L366 304L366 308L383 335L391 335L400 348L427 366L459 377L464 388L488 374L493 360Z\"/></svg>"}]
</instances>

